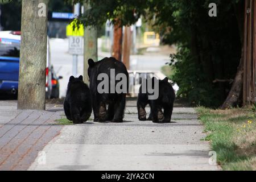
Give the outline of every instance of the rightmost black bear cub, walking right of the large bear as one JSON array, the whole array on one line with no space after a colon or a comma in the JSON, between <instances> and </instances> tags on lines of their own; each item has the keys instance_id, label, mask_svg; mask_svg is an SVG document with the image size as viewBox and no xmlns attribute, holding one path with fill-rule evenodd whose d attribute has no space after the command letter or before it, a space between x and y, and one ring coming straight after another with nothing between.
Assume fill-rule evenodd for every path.
<instances>
[{"instance_id":1,"label":"rightmost black bear cub, walking right of the large bear","mask_svg":"<svg viewBox=\"0 0 256 182\"><path fill-rule=\"evenodd\" d=\"M154 85L155 77L148 79L147 84L149 81L152 82L152 88L156 88ZM147 85L146 84L146 85ZM138 117L139 120L145 121L146 120L146 110L145 107L147 104L150 105L150 115L147 120L156 123L168 123L171 122L171 115L172 110L174 107L174 99L175 99L175 92L172 88L172 85L168 82L168 78L164 78L163 80L158 80L159 85L159 94L158 98L156 99L148 99L148 96L152 95L148 93L147 87L146 92L142 93L142 85L139 88L138 100L137 100L137 109L138 109ZM163 109L163 111L162 111Z\"/></svg>"}]
</instances>

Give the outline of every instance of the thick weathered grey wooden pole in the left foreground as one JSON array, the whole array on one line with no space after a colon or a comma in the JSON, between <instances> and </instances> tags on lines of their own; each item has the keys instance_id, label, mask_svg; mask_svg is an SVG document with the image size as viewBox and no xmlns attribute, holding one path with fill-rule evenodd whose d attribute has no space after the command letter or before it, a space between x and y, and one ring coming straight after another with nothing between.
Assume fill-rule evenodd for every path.
<instances>
[{"instance_id":1,"label":"thick weathered grey wooden pole in the left foreground","mask_svg":"<svg viewBox=\"0 0 256 182\"><path fill-rule=\"evenodd\" d=\"M46 108L48 0L23 0L18 109Z\"/></svg>"}]
</instances>

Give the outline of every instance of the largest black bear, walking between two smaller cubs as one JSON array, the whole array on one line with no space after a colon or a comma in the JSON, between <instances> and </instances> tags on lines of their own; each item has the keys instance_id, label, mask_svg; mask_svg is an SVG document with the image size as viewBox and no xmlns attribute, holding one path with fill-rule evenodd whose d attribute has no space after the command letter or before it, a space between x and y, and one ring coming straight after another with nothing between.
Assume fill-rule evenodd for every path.
<instances>
[{"instance_id":1,"label":"largest black bear, walking between two smaller cubs","mask_svg":"<svg viewBox=\"0 0 256 182\"><path fill-rule=\"evenodd\" d=\"M105 57L97 62L89 59L88 64L94 121L122 122L129 85L129 75L125 65L114 57ZM125 84L120 86L119 82L123 81ZM105 85L102 85L102 82ZM117 92L115 88L118 85L123 92L120 90Z\"/></svg>"}]
</instances>

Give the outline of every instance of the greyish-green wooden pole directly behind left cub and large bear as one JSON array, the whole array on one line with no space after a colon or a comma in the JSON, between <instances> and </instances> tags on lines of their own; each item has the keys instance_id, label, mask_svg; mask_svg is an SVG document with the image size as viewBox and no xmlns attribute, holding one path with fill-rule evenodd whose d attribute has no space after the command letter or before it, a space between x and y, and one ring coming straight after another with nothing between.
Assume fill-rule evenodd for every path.
<instances>
[{"instance_id":1,"label":"greyish-green wooden pole directly behind left cub and large bear","mask_svg":"<svg viewBox=\"0 0 256 182\"><path fill-rule=\"evenodd\" d=\"M84 3L84 11L90 9L89 3ZM84 25L84 82L88 84L88 59L98 60L97 28Z\"/></svg>"}]
</instances>

